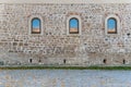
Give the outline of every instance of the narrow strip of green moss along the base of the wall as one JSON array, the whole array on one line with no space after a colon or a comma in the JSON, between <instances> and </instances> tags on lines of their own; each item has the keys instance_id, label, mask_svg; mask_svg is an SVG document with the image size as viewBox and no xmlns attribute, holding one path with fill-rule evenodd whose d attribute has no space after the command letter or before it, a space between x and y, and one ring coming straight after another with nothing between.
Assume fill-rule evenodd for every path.
<instances>
[{"instance_id":1,"label":"narrow strip of green moss along the base of the wall","mask_svg":"<svg viewBox=\"0 0 131 87\"><path fill-rule=\"evenodd\" d=\"M131 66L0 66L0 70L131 70Z\"/></svg>"}]
</instances>

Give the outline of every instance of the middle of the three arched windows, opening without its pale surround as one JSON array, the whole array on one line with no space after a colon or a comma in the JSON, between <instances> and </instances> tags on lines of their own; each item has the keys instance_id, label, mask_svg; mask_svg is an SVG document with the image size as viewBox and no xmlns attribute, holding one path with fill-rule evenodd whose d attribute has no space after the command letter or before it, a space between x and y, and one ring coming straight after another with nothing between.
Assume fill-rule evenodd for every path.
<instances>
[{"instance_id":1,"label":"middle of the three arched windows, opening without its pale surround","mask_svg":"<svg viewBox=\"0 0 131 87\"><path fill-rule=\"evenodd\" d=\"M79 20L72 17L69 20L69 34L79 34Z\"/></svg>"}]
</instances>

